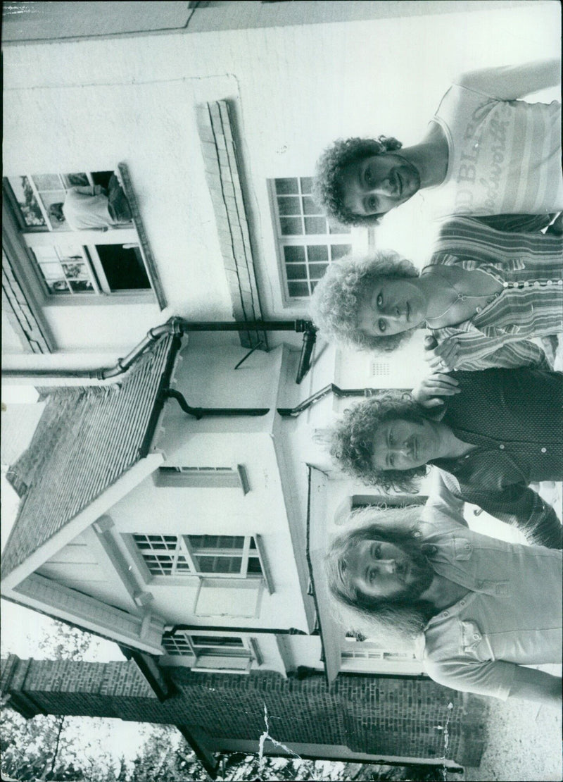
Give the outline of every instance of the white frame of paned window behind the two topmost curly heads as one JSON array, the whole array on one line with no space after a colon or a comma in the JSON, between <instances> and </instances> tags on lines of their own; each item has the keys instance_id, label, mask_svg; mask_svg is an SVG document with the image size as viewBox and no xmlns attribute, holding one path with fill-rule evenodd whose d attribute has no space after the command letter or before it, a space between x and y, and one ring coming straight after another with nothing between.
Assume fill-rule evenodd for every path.
<instances>
[{"instance_id":1,"label":"white frame of paned window behind the two topmost curly heads","mask_svg":"<svg viewBox=\"0 0 563 782\"><path fill-rule=\"evenodd\" d=\"M269 178L266 180L266 186L268 190L268 198L269 198L269 206L270 206L270 213L272 216L272 224L273 224L273 238L274 238L274 244L276 246L276 260L277 260L277 267L278 267L278 275L280 278L280 290L282 295L282 303L283 307L299 307L303 304L307 304L311 300L311 295L308 296L290 296L289 292L289 283L290 282L300 282L296 280L288 280L287 279L287 269L286 269L286 261L285 256L283 254L283 247L285 246L298 246L298 247L304 247L308 245L319 245L323 247L328 247L328 265L332 263L333 261L330 259L330 245L349 245L351 248L351 252L354 250L362 250L365 249L367 251L368 249L368 242L367 242L367 231L365 229L362 231L362 229L353 228L351 227L349 233L323 233L323 234L301 234L301 235L283 235L282 228L281 228L281 222L280 222L280 211L278 209L278 202L277 198L279 193L276 192L276 181L279 179L297 179L298 180L298 194L295 194L294 197L301 199L304 195L309 195L308 193L302 193L301 192L301 179L309 179L311 177L308 176L285 176L285 177L274 177ZM288 194L293 195L293 194ZM281 216L283 217L283 215ZM301 219L305 219L305 215L301 214ZM359 246L358 246L359 245ZM337 260L337 259L334 259ZM324 263L323 261L319 261L319 263ZM306 282L308 286L310 286L310 276L309 276L309 261L305 259L305 266L307 267L307 278L303 281Z\"/></svg>"}]
</instances>

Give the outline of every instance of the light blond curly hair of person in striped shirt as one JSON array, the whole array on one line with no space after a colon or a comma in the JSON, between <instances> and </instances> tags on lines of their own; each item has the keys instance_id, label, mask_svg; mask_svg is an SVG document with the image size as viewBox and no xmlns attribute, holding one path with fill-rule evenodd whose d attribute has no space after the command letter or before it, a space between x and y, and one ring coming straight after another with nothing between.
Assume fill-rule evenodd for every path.
<instances>
[{"instance_id":1,"label":"light blond curly hair of person in striped shirt","mask_svg":"<svg viewBox=\"0 0 563 782\"><path fill-rule=\"evenodd\" d=\"M312 319L326 339L361 350L396 350L411 338L414 329L389 336L367 335L358 328L358 312L376 280L418 276L414 264L394 250L378 250L369 257L344 256L329 265L315 286L310 303Z\"/></svg>"}]
</instances>

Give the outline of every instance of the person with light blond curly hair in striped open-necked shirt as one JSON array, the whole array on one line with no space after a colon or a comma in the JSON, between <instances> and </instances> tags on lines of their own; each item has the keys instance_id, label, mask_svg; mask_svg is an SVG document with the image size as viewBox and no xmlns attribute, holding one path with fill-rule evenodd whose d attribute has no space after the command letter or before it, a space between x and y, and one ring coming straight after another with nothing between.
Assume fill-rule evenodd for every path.
<instances>
[{"instance_id":1,"label":"person with light blond curly hair in striped open-necked shirt","mask_svg":"<svg viewBox=\"0 0 563 782\"><path fill-rule=\"evenodd\" d=\"M549 368L529 339L563 330L562 254L558 235L449 218L420 273L393 251L331 264L312 317L328 339L364 350L395 350L426 325L434 368Z\"/></svg>"}]
</instances>

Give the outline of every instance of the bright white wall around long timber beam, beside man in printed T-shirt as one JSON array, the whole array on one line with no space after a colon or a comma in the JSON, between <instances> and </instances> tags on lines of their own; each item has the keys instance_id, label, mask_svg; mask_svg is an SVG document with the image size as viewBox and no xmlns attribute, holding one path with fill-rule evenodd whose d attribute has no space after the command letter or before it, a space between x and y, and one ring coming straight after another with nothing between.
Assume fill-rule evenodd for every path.
<instances>
[{"instance_id":1,"label":"bright white wall around long timber beam, beside man in printed T-shirt","mask_svg":"<svg viewBox=\"0 0 563 782\"><path fill-rule=\"evenodd\" d=\"M312 173L319 151L338 136L385 132L415 142L454 74L557 56L558 22L557 3L522 3L470 14L12 45L5 50L5 174L123 160L170 310L230 317L194 103L237 99L262 299L266 314L280 314L266 180ZM380 244L420 256L420 201L389 217ZM62 350L131 345L162 319L150 305L83 306L80 317L73 310L49 308Z\"/></svg>"}]
</instances>

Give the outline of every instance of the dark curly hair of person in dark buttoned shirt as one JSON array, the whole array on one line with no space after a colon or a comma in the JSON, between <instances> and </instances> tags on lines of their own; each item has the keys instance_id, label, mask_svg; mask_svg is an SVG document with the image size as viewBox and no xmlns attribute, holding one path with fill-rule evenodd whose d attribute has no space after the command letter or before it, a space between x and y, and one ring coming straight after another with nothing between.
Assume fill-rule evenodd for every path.
<instances>
[{"instance_id":1,"label":"dark curly hair of person in dark buttoned shirt","mask_svg":"<svg viewBox=\"0 0 563 782\"><path fill-rule=\"evenodd\" d=\"M411 394L393 389L348 407L330 433L330 455L338 467L369 486L379 486L385 491L417 492L416 479L426 475L426 465L410 470L378 470L372 465L372 443L377 427L397 418L420 423L427 415Z\"/></svg>"}]
</instances>

